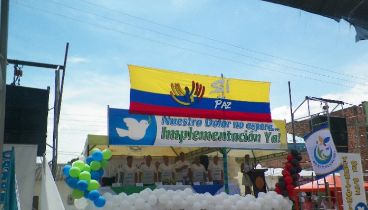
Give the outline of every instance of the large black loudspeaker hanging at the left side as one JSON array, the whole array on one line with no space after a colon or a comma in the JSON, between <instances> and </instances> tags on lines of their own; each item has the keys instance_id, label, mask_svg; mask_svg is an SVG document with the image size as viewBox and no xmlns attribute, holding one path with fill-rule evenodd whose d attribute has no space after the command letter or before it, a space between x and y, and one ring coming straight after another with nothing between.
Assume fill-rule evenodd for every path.
<instances>
[{"instance_id":1,"label":"large black loudspeaker hanging at the left side","mask_svg":"<svg viewBox=\"0 0 368 210\"><path fill-rule=\"evenodd\" d=\"M45 153L49 92L6 85L4 144L38 145L37 156Z\"/></svg>"}]
</instances>

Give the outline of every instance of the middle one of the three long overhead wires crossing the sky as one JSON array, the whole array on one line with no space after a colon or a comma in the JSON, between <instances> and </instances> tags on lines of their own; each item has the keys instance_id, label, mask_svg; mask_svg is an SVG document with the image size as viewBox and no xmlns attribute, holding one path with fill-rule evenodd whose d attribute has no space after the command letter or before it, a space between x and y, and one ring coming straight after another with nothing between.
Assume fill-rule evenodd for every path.
<instances>
[{"instance_id":1,"label":"middle one of the three long overhead wires crossing the sky","mask_svg":"<svg viewBox=\"0 0 368 210\"><path fill-rule=\"evenodd\" d=\"M114 22L117 22L117 23L120 23L120 24L125 24L125 25L131 26L131 27L135 27L135 28L138 28L138 29L151 31L151 32L158 33L158 34L161 34L161 35L165 35L165 36L168 36L168 37L171 37L171 38L176 38L176 39L179 39L179 40L182 40L182 41L194 43L194 44L201 45L201 46L208 47L208 48L212 48L212 49L215 49L215 50L220 50L220 51L223 51L223 52L226 52L226 53L231 53L231 54L234 54L234 55L238 55L238 56L242 56L242 57L246 57L246 58L250 58L250 59L254 59L254 60L259 60L259 61L267 62L267 63L270 63L270 64L275 64L275 65L279 65L279 66L282 66L282 67L287 67L287 68L291 68L291 69L294 69L294 70L299 70L299 71L307 72L307 73L310 73L310 74L315 74L315 75L318 75L318 76L324 76L324 77L329 77L329 78L333 78L333 79L337 79L337 80L341 80L341 81L345 81L345 82L350 82L350 83L355 83L355 84L359 84L359 85L368 86L367 84L364 84L364 83L359 83L359 82L355 82L355 81L351 81L351 80L347 80L347 79L342 79L342 78L338 78L338 77L324 75L324 74L316 73L316 72L313 72L313 71L308 71L308 70L305 70L305 69L296 68L296 67L292 67L292 66L288 66L288 65L284 65L284 64L280 64L280 63L268 61L268 60L258 59L258 58L255 58L255 57L246 56L244 54L235 53L233 51L225 50L225 49L222 49L222 48L218 48L218 47L213 47L213 46L210 46L210 45L202 44L200 42L192 41L192 40L189 40L189 39L184 39L184 38L180 38L180 37L177 37L177 36L169 35L167 33L163 33L163 32L160 32L160 31L150 30L150 29L147 29L147 28L135 26L134 24L126 23L126 22L123 22L123 21L118 21L118 20L113 19L113 18L109 18L109 17L106 17L106 16L98 15L96 13L92 13L92 12L89 12L89 11L86 11L86 10L82 10L82 9L78 9L78 8L75 8L75 7L71 7L71 6L68 6L66 4L55 2L55 1L52 1L52 0L46 0L46 1L52 2L54 4L58 4L58 5L61 5L61 6L70 8L70 9L74 9L74 10L77 10L77 11L80 11L80 12L84 12L84 13L87 13L87 14L90 14L90 15L94 15L94 16L97 16L97 17L100 17L100 18L105 18L107 20L111 20L111 21L114 21ZM337 73L337 72L335 72L335 73Z\"/></svg>"}]
</instances>

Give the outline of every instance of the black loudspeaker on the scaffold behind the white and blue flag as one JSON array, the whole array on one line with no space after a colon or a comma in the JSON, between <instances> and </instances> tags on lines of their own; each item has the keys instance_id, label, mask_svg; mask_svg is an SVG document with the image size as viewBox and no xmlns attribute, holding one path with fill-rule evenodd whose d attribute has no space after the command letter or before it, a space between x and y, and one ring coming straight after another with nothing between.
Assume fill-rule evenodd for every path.
<instances>
[{"instance_id":1,"label":"black loudspeaker on the scaffold behind the white and blue flag","mask_svg":"<svg viewBox=\"0 0 368 210\"><path fill-rule=\"evenodd\" d=\"M310 129L315 130L328 123L327 116L317 116L310 120ZM348 152L348 138L346 119L340 117L330 117L330 132L334 140L337 152Z\"/></svg>"}]
</instances>

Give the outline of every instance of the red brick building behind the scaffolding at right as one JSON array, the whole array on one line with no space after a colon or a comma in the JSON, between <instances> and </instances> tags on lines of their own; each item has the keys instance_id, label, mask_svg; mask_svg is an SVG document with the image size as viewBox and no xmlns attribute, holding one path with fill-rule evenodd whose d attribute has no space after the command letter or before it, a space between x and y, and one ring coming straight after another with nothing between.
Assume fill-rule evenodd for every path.
<instances>
[{"instance_id":1,"label":"red brick building behind the scaffolding at right","mask_svg":"<svg viewBox=\"0 0 368 210\"><path fill-rule=\"evenodd\" d=\"M347 152L349 153L360 153L362 157L362 167L363 167L363 176L364 180L368 181L368 148L367 148L367 111L368 111L368 102L364 101L362 104L358 106L352 106L351 104L346 104L341 101L332 101L328 100L330 106L331 103L337 102L340 103L341 108L340 110L334 111L332 113L329 113L330 119L333 117L341 117L346 119L346 131L338 131L338 136L346 135L347 142ZM338 106L340 106L338 105ZM349 107L343 108L343 105L348 105ZM304 136L305 134L308 134L311 132L311 123L313 123L313 119L316 119L316 117L320 116L327 116L327 113L319 113L318 115L313 116L307 116L303 120L296 120L295 123L295 135L297 136ZM327 119L327 118L326 118ZM311 122L312 121L312 122ZM330 120L331 121L331 120ZM330 122L331 123L331 122ZM331 125L330 129L333 133L333 126ZM339 127L339 125L337 125ZM287 123L286 129L288 133L292 133L292 123ZM340 129L340 128L337 128ZM334 134L333 134L334 138ZM338 140L339 138L334 138ZM337 143L338 144L338 143ZM336 142L335 142L336 145ZM337 148L338 146L336 146ZM302 152L303 159L301 161L301 167L303 169L312 169L312 165L310 163L310 159L308 157L308 154L306 151ZM268 162L261 163L262 166L268 166L268 167L284 167L284 164L286 162L286 156L281 157L277 160L271 160Z\"/></svg>"}]
</instances>

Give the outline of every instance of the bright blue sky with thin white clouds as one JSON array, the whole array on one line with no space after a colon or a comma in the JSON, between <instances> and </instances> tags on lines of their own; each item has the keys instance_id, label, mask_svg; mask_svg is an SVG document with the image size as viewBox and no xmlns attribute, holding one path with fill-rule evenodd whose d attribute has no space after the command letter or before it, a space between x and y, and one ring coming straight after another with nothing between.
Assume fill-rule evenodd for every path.
<instances>
[{"instance_id":1,"label":"bright blue sky with thin white clouds","mask_svg":"<svg viewBox=\"0 0 368 210\"><path fill-rule=\"evenodd\" d=\"M368 100L368 41L356 43L354 27L344 21L282 5L261 0L11 0L9 13L9 59L63 64L70 44L59 162L78 155L88 133L107 134L108 104L129 108L127 64L271 82L273 119L290 118L288 81L293 106L307 95L352 104ZM51 108L54 77L52 69L26 66L20 84L50 86ZM9 65L7 84L12 79Z\"/></svg>"}]
</instances>

